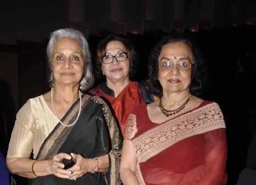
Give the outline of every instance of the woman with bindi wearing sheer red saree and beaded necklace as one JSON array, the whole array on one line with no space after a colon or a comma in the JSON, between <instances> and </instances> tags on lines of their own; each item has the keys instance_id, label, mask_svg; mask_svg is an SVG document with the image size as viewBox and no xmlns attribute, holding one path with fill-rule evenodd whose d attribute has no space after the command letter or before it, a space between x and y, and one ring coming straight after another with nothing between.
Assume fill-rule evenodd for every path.
<instances>
[{"instance_id":1,"label":"woman with bindi wearing sheer red saree and beaded necklace","mask_svg":"<svg viewBox=\"0 0 256 185\"><path fill-rule=\"evenodd\" d=\"M152 50L149 70L161 98L128 117L123 184L225 184L223 114L217 103L197 97L207 82L201 52L184 35L168 36Z\"/></svg>"}]
</instances>

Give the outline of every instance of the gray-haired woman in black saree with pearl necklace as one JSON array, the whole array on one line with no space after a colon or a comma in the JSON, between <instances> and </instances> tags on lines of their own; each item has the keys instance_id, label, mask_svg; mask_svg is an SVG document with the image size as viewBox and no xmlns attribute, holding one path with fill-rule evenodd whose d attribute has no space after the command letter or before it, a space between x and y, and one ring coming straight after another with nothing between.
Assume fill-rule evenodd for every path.
<instances>
[{"instance_id":1,"label":"gray-haired woman in black saree with pearl necklace","mask_svg":"<svg viewBox=\"0 0 256 185\"><path fill-rule=\"evenodd\" d=\"M10 172L30 184L120 184L116 122L103 100L80 91L94 82L86 38L59 29L50 35L47 57L52 89L18 112L7 154Z\"/></svg>"}]
</instances>

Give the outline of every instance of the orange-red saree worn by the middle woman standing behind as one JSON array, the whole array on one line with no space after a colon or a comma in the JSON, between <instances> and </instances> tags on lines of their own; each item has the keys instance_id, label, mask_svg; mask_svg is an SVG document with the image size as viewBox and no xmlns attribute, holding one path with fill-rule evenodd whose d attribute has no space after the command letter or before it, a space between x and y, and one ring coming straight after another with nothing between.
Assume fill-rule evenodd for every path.
<instances>
[{"instance_id":1,"label":"orange-red saree worn by the middle woman standing behind","mask_svg":"<svg viewBox=\"0 0 256 185\"><path fill-rule=\"evenodd\" d=\"M123 91L118 94L115 98L112 89L106 86L106 83L103 83L96 87L95 89L96 96L105 100L105 102L110 103L113 113L118 120L122 134L124 134L124 128L126 125L126 120L129 116L130 111L136 105L139 105L143 100L141 97L141 92L138 82L130 82ZM151 100L152 102L152 100Z\"/></svg>"}]
</instances>

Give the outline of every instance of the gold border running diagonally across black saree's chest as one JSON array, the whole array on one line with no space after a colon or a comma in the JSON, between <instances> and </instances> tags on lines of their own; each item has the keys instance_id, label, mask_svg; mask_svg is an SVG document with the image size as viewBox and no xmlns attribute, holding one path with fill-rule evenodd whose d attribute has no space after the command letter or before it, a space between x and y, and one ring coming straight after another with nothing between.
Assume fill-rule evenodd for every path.
<instances>
[{"instance_id":1,"label":"gold border running diagonally across black saree's chest","mask_svg":"<svg viewBox=\"0 0 256 185\"><path fill-rule=\"evenodd\" d=\"M90 96L85 95L82 97L82 111L86 107L88 100ZM74 106L71 107L65 118L63 119L64 124L71 124L75 121L77 114L79 111L79 104L76 102ZM72 128L75 125L71 127L65 127L62 124L58 123L56 127L54 128L53 132L50 133L50 135L45 139L43 145L41 146L41 149L39 150L37 160L45 160L45 159L51 159L53 156L55 156L62 144L67 139L67 136L69 136Z\"/></svg>"}]
</instances>

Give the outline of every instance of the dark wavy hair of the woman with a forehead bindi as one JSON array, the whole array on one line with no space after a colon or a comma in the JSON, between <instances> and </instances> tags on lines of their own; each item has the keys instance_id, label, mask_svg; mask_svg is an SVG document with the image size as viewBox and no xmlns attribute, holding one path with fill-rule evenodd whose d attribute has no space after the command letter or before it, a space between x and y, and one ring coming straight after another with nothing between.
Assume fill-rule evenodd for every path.
<instances>
[{"instance_id":1,"label":"dark wavy hair of the woman with a forehead bindi","mask_svg":"<svg viewBox=\"0 0 256 185\"><path fill-rule=\"evenodd\" d=\"M201 96L201 94L204 92L203 87L206 87L209 82L207 76L207 65L204 62L204 57L195 41L185 34L168 35L161 39L151 51L148 64L149 77L151 80L151 92L155 96L163 96L163 89L158 81L158 58L160 56L162 47L173 43L183 43L190 48L193 58L190 93L194 94L195 96Z\"/></svg>"}]
</instances>

